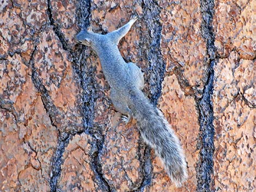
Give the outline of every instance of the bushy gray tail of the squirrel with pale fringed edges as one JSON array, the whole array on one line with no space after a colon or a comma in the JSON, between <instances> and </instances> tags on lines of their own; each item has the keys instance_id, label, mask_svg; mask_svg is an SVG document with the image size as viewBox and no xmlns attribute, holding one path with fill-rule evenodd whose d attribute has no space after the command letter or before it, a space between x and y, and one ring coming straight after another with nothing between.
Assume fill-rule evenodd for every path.
<instances>
[{"instance_id":1,"label":"bushy gray tail of the squirrel with pale fringed edges","mask_svg":"<svg viewBox=\"0 0 256 192\"><path fill-rule=\"evenodd\" d=\"M142 91L130 93L129 108L137 120L142 138L161 158L170 179L181 187L187 179L187 166L179 139L162 112L149 102Z\"/></svg>"}]
</instances>

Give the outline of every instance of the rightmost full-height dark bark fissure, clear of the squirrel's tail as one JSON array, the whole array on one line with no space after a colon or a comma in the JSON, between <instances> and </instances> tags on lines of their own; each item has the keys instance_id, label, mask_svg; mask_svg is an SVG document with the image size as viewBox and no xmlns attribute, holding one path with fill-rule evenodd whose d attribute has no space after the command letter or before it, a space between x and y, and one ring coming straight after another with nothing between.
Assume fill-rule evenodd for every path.
<instances>
[{"instance_id":1,"label":"rightmost full-height dark bark fissure, clear of the squirrel's tail","mask_svg":"<svg viewBox=\"0 0 256 192\"><path fill-rule=\"evenodd\" d=\"M214 65L216 64L215 35L212 29L214 16L214 0L200 0L202 13L201 32L206 41L207 56L205 62L209 64L208 79L206 81L202 98L197 99L199 112L200 133L198 146L200 146L197 163L197 191L214 191L214 110L211 95L214 83Z\"/></svg>"}]
</instances>

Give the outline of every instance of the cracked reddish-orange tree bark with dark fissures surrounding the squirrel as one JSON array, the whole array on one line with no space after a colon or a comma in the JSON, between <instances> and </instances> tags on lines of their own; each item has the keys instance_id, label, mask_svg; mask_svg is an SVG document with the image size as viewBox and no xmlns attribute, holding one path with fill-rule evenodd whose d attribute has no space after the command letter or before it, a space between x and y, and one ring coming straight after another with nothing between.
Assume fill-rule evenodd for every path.
<instances>
[{"instance_id":1,"label":"cracked reddish-orange tree bark with dark fissures surrounding the squirrel","mask_svg":"<svg viewBox=\"0 0 256 192\"><path fill-rule=\"evenodd\" d=\"M0 191L255 191L255 1L0 4ZM175 188L124 126L92 49L75 34L139 20L120 41L184 147Z\"/></svg>"}]
</instances>

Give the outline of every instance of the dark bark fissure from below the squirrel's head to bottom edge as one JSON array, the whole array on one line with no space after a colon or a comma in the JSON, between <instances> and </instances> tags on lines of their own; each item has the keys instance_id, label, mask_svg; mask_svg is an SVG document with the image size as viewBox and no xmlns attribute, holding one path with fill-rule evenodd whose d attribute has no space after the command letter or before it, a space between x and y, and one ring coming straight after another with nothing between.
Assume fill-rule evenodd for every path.
<instances>
[{"instance_id":1,"label":"dark bark fissure from below the squirrel's head to bottom edge","mask_svg":"<svg viewBox=\"0 0 256 192\"><path fill-rule=\"evenodd\" d=\"M91 137L93 137L95 140L92 141L92 145L95 146L95 151L92 154L92 162L91 167L95 174L95 179L97 184L99 184L99 187L102 188L103 191L112 191L111 187L108 185L105 178L103 178L102 174L102 166L100 163L100 151L102 149L103 143L104 143L104 135L102 134L102 128L101 127L95 127L93 123L94 119L94 103L95 103L95 90L96 87L94 85L95 80L92 76L95 74L95 69L90 68L88 69L86 59L89 55L85 54L86 49L83 48L83 46L80 46L80 48L77 49L77 56L75 59L75 65L74 69L76 73L78 74L80 78L80 84L83 89L83 106L82 106L82 112L83 112L83 121L84 121L84 127L85 127L85 133L89 134Z\"/></svg>"}]
</instances>

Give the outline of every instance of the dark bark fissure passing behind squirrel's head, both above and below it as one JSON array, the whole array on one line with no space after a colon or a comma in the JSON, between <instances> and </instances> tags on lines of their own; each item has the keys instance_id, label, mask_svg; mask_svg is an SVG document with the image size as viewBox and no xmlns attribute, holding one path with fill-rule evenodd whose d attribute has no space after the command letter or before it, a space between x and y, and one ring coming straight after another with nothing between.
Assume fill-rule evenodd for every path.
<instances>
[{"instance_id":1,"label":"dark bark fissure passing behind squirrel's head, both above and below it","mask_svg":"<svg viewBox=\"0 0 256 192\"><path fill-rule=\"evenodd\" d=\"M77 22L81 29L86 29L89 26L91 4L90 0L78 1L77 3ZM80 84L83 89L83 117L84 117L84 127L86 128L86 133L93 137L95 140L92 143L94 146L94 152L90 156L92 158L90 166L95 174L94 182L98 184L100 190L102 191L113 191L110 185L103 177L102 165L100 162L100 152L103 147L105 140L102 134L101 127L95 127L94 120L94 103L96 94L96 80L94 79L95 69L88 66L86 59L89 55L86 54L86 48L79 45L74 52L74 69L80 78Z\"/></svg>"}]
</instances>

